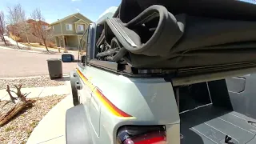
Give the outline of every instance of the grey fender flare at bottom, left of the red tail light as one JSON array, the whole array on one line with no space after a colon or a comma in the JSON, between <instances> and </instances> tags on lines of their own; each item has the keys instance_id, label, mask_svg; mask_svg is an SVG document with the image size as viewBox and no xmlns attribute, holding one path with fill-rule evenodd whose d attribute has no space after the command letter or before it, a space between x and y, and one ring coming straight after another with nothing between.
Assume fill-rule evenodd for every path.
<instances>
[{"instance_id":1,"label":"grey fender flare at bottom, left of the red tail light","mask_svg":"<svg viewBox=\"0 0 256 144\"><path fill-rule=\"evenodd\" d=\"M82 104L66 110L66 144L93 144L86 110Z\"/></svg>"}]
</instances>

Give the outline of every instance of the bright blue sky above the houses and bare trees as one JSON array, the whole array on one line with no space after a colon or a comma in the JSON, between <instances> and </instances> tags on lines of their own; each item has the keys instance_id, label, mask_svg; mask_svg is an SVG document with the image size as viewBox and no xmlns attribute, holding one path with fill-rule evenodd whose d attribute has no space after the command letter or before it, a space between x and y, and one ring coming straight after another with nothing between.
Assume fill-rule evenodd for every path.
<instances>
[{"instance_id":1,"label":"bright blue sky above the houses and bare trees","mask_svg":"<svg viewBox=\"0 0 256 144\"><path fill-rule=\"evenodd\" d=\"M55 22L69 14L81 13L93 22L98 19L110 6L119 6L121 0L1 0L0 10L7 14L7 6L14 6L17 3L22 5L26 11L26 17L39 8L42 11L46 22Z\"/></svg>"}]
</instances>

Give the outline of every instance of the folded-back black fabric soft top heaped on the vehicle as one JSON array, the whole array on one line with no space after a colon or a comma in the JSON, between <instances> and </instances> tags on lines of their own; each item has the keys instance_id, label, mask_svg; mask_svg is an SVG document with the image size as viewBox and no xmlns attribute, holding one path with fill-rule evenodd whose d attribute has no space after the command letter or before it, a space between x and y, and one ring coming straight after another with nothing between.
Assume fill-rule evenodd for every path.
<instances>
[{"instance_id":1,"label":"folded-back black fabric soft top heaped on the vehicle","mask_svg":"<svg viewBox=\"0 0 256 144\"><path fill-rule=\"evenodd\" d=\"M100 60L125 60L134 68L179 74L256 66L256 5L252 3L122 0L114 17L104 22L97 46L106 42L115 54L99 50ZM118 45L111 47L116 39Z\"/></svg>"}]
</instances>

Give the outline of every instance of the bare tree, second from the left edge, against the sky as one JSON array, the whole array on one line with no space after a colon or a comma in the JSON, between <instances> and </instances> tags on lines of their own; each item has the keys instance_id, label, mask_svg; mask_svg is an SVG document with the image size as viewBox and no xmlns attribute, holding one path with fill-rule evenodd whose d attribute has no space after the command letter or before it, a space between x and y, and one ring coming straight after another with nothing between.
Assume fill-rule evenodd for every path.
<instances>
[{"instance_id":1,"label":"bare tree, second from the left edge, against the sky","mask_svg":"<svg viewBox=\"0 0 256 144\"><path fill-rule=\"evenodd\" d=\"M8 7L8 20L10 23L10 26L8 27L8 30L14 34L14 41L16 41L16 44L18 46L17 37L19 34L25 34L26 39L29 42L29 38L27 37L28 34L28 24L26 23L26 15L25 10L22 9L22 6L20 4L17 4L12 7ZM19 47L19 46L18 46Z\"/></svg>"}]
</instances>

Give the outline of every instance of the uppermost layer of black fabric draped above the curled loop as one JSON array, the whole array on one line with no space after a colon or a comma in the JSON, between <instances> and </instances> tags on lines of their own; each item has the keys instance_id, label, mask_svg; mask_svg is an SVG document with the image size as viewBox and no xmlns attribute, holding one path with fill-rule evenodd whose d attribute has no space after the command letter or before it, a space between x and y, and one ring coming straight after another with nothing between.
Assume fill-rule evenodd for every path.
<instances>
[{"instance_id":1,"label":"uppermost layer of black fabric draped above the curled loop","mask_svg":"<svg viewBox=\"0 0 256 144\"><path fill-rule=\"evenodd\" d=\"M234 20L255 20L254 0L122 0L119 15L122 22L129 22L146 8L165 6L171 14L189 14ZM118 13L117 13L118 14ZM116 16L117 16L116 14Z\"/></svg>"}]
</instances>

